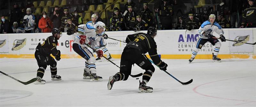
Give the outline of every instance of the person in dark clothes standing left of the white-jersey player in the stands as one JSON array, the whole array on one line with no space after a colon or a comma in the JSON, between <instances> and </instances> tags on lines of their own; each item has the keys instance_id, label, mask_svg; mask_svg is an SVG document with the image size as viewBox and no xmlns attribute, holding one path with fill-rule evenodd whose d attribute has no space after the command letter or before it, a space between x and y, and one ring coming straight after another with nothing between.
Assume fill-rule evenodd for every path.
<instances>
[{"instance_id":1,"label":"person in dark clothes standing left of the white-jersey player in the stands","mask_svg":"<svg viewBox=\"0 0 256 107\"><path fill-rule=\"evenodd\" d=\"M17 22L20 26L20 19L22 18L22 13L17 3L14 3L13 10L11 10L10 23Z\"/></svg>"}]
</instances>

